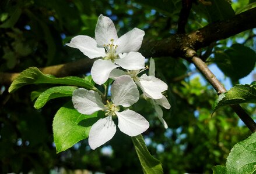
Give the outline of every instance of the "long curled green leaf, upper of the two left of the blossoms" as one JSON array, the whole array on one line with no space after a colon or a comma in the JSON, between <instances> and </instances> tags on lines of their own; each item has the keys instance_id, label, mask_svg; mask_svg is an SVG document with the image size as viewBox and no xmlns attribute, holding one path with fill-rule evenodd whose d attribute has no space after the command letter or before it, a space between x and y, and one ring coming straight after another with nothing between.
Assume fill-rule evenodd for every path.
<instances>
[{"instance_id":1,"label":"long curled green leaf, upper of the two left of the blossoms","mask_svg":"<svg viewBox=\"0 0 256 174\"><path fill-rule=\"evenodd\" d=\"M94 86L92 83L79 77L62 77L56 78L50 75L43 74L38 68L30 67L22 71L20 75L12 82L9 88L9 92L14 92L24 85L29 84L62 84L82 86L84 88L92 89Z\"/></svg>"}]
</instances>

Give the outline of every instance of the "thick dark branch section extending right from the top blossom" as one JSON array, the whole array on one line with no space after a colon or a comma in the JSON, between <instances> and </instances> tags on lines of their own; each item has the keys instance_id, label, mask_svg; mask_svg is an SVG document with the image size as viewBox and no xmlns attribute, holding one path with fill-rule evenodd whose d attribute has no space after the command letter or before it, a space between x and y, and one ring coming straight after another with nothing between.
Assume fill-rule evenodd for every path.
<instances>
[{"instance_id":1,"label":"thick dark branch section extending right from the top blossom","mask_svg":"<svg viewBox=\"0 0 256 174\"><path fill-rule=\"evenodd\" d=\"M229 38L256 27L256 8L237 14L232 19L209 24L190 34L173 34L160 41L145 41L140 52L145 57L183 57L183 48L195 50L209 46L212 42Z\"/></svg>"}]
</instances>

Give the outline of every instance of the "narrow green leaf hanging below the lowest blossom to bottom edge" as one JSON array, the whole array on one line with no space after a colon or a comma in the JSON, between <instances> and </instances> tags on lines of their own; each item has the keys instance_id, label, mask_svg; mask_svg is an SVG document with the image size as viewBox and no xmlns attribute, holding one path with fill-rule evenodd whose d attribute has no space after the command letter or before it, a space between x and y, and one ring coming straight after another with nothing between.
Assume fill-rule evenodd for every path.
<instances>
[{"instance_id":1,"label":"narrow green leaf hanging below the lowest blossom to bottom edge","mask_svg":"<svg viewBox=\"0 0 256 174\"><path fill-rule=\"evenodd\" d=\"M141 162L143 173L163 173L161 162L150 155L142 135L132 137L132 142Z\"/></svg>"}]
</instances>

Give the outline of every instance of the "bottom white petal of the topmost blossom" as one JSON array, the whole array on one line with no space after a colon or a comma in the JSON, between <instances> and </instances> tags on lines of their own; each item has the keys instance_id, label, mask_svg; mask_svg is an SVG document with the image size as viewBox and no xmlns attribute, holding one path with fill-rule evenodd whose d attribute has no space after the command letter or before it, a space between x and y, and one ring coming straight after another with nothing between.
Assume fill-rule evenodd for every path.
<instances>
[{"instance_id":1,"label":"bottom white petal of the topmost blossom","mask_svg":"<svg viewBox=\"0 0 256 174\"><path fill-rule=\"evenodd\" d=\"M110 72L117 67L119 66L112 63L111 60L99 59L94 61L91 70L93 81L98 85L104 84L104 82L107 81Z\"/></svg>"}]
</instances>

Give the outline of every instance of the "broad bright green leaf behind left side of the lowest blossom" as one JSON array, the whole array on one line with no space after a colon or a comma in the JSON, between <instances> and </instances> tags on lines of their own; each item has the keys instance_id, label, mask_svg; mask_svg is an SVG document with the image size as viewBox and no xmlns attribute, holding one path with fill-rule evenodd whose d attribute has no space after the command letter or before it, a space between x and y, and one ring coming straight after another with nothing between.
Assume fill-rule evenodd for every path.
<instances>
[{"instance_id":1,"label":"broad bright green leaf behind left side of the lowest blossom","mask_svg":"<svg viewBox=\"0 0 256 174\"><path fill-rule=\"evenodd\" d=\"M57 153L65 151L89 136L92 125L97 121L97 112L92 115L78 113L68 102L55 114L52 129Z\"/></svg>"}]
</instances>

